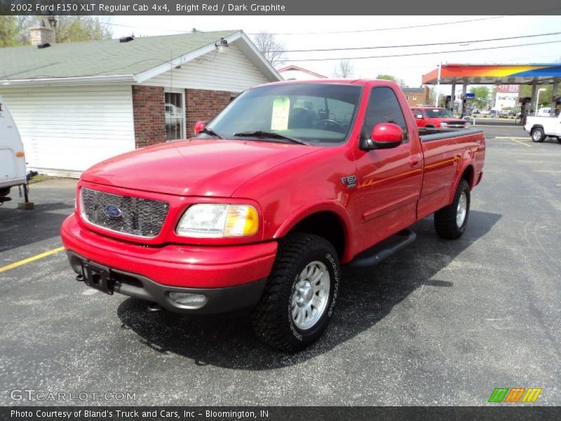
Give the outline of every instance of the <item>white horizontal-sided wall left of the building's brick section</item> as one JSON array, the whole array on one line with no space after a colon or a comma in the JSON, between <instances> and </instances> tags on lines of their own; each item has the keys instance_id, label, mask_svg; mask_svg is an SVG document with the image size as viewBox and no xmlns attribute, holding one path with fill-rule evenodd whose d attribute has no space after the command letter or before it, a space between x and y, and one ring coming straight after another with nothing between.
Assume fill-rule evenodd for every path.
<instances>
[{"instance_id":1,"label":"white horizontal-sided wall left of the building's brick section","mask_svg":"<svg viewBox=\"0 0 561 421\"><path fill-rule=\"evenodd\" d=\"M1 91L20 131L29 169L72 177L135 149L130 86Z\"/></svg>"}]
</instances>

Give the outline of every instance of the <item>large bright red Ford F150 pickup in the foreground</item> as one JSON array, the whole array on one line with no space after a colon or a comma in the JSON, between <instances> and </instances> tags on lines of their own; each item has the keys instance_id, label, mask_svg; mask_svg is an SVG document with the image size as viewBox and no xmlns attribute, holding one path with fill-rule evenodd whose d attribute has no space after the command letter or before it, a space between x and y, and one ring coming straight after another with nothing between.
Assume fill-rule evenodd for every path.
<instances>
[{"instance_id":1,"label":"large bright red Ford F150 pickup in the foreground","mask_svg":"<svg viewBox=\"0 0 561 421\"><path fill-rule=\"evenodd\" d=\"M252 309L259 337L297 351L331 319L339 265L374 265L432 213L446 239L466 229L485 138L422 130L391 81L252 88L195 138L85 171L61 230L70 265L174 312Z\"/></svg>"}]
</instances>

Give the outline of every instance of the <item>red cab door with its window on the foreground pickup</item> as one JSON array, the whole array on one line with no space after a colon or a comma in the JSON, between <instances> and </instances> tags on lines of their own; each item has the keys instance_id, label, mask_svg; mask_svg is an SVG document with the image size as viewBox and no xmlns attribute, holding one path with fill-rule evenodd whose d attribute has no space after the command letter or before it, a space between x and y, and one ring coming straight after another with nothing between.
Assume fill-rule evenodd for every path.
<instances>
[{"instance_id":1,"label":"red cab door with its window on the foreground pickup","mask_svg":"<svg viewBox=\"0 0 561 421\"><path fill-rule=\"evenodd\" d=\"M360 250L396 234L417 218L417 200L421 191L423 157L417 127L403 95L389 86L374 86L370 91L361 136L371 136L379 123L395 123L403 129L403 142L391 149L361 150L356 146L356 212L353 218L360 229L356 236ZM407 125L407 121L410 124ZM360 143L360 142L359 142Z\"/></svg>"}]
</instances>

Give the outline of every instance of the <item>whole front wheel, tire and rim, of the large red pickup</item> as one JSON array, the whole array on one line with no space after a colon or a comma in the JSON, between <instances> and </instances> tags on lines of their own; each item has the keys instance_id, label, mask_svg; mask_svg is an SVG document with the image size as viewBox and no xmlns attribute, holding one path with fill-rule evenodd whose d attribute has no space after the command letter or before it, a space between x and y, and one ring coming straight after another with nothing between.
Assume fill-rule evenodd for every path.
<instances>
[{"instance_id":1,"label":"whole front wheel, tire and rim, of the large red pickup","mask_svg":"<svg viewBox=\"0 0 561 421\"><path fill-rule=\"evenodd\" d=\"M332 244L313 234L290 234L278 253L252 313L255 333L267 345L296 352L311 345L330 322L341 269Z\"/></svg>"}]
</instances>

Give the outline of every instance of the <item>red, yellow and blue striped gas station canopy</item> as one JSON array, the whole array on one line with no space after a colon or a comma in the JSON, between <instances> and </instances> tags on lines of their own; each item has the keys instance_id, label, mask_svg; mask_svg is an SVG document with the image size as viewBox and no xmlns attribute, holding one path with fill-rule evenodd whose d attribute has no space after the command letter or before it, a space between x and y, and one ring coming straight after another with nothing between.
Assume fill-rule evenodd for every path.
<instances>
[{"instance_id":1,"label":"red, yellow and blue striped gas station canopy","mask_svg":"<svg viewBox=\"0 0 561 421\"><path fill-rule=\"evenodd\" d=\"M561 78L561 64L541 65L442 65L440 84L464 83L468 85L516 84L532 85L553 83ZM438 83L438 68L423 76L423 83Z\"/></svg>"}]
</instances>

